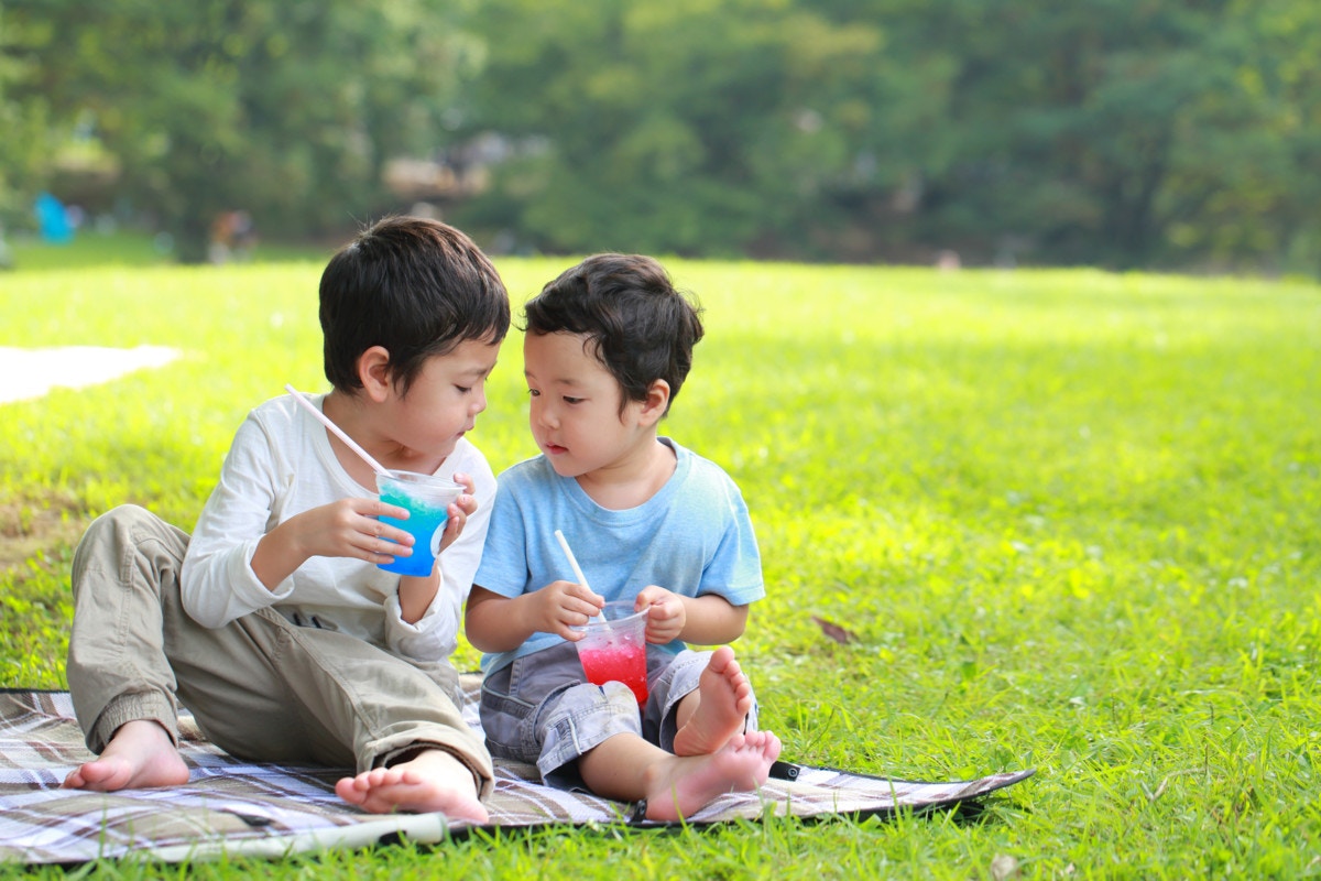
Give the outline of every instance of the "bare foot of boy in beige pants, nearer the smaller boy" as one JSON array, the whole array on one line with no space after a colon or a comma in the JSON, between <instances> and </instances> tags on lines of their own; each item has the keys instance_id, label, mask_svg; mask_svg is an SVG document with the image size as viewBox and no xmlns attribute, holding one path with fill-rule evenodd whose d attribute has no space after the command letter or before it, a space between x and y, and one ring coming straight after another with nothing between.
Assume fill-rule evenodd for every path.
<instances>
[{"instance_id":1,"label":"bare foot of boy in beige pants, nearer the smaller boy","mask_svg":"<svg viewBox=\"0 0 1321 881\"><path fill-rule=\"evenodd\" d=\"M473 773L440 749L423 750L399 765L345 777L336 783L334 791L369 814L440 811L454 820L485 823L490 819L477 799Z\"/></svg>"}]
</instances>

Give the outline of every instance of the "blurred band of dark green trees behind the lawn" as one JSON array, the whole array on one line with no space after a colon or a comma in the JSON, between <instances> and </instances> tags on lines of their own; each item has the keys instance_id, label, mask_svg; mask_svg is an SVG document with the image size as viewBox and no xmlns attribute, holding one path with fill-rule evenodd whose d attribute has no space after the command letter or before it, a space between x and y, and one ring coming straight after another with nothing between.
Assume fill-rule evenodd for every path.
<instances>
[{"instance_id":1,"label":"blurred band of dark green trees behind the lawn","mask_svg":"<svg viewBox=\"0 0 1321 881\"><path fill-rule=\"evenodd\" d=\"M83 143L193 256L406 156L526 250L1321 269L1316 0L0 4L0 210Z\"/></svg>"}]
</instances>

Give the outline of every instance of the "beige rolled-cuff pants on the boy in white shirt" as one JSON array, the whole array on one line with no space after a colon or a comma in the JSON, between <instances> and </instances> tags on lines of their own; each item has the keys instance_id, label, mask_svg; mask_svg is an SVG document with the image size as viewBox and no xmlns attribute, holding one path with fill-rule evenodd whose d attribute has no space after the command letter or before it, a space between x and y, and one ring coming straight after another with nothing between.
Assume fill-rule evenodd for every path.
<instances>
[{"instance_id":1,"label":"beige rolled-cuff pants on the boy in white shirt","mask_svg":"<svg viewBox=\"0 0 1321 881\"><path fill-rule=\"evenodd\" d=\"M490 794L490 754L454 705L448 662L421 670L272 609L203 627L180 600L186 548L188 534L135 506L98 518L78 546L69 691L94 753L137 719L177 742L181 701L238 758L363 771L435 746Z\"/></svg>"}]
</instances>

